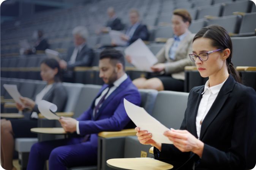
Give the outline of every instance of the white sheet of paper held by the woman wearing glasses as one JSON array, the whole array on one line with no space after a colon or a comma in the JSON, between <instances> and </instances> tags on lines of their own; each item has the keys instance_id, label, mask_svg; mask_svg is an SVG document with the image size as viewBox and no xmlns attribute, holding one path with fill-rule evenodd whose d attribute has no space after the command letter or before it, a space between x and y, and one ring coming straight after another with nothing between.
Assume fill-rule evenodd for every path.
<instances>
[{"instance_id":1,"label":"white sheet of paper held by the woman wearing glasses","mask_svg":"<svg viewBox=\"0 0 256 170\"><path fill-rule=\"evenodd\" d=\"M141 130L147 130L152 134L152 139L158 143L171 143L168 137L164 136L165 131L170 130L158 120L148 114L144 108L136 106L130 101L123 99L125 111L133 123Z\"/></svg>"}]
</instances>

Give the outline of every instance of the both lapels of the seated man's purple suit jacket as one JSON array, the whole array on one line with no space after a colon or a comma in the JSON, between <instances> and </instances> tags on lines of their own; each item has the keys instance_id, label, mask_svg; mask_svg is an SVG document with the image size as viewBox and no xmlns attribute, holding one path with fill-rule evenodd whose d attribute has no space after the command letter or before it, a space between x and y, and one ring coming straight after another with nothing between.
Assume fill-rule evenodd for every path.
<instances>
[{"instance_id":1,"label":"both lapels of the seated man's purple suit jacket","mask_svg":"<svg viewBox=\"0 0 256 170\"><path fill-rule=\"evenodd\" d=\"M121 83L120 86L118 86L118 87L114 90L114 92L112 92L112 93L109 95L109 97L106 98L106 100L104 100L104 102L102 103L102 106L101 106L100 109L99 109L98 114L96 115L95 119L93 119L93 120L97 120L98 117L99 117L99 115L101 114L101 112L102 112L102 111L104 110L104 108L107 106L107 104L108 104L110 101L112 101L113 98L114 98L115 96L117 96L117 94L122 93L122 90L124 90L124 89L128 86L128 84L130 84L130 83L131 83L131 79L130 79L129 77L126 78L126 80L123 81L123 83ZM92 111L93 111L93 108L94 108L94 106L95 106L95 100L96 100L96 98L100 97L101 93L102 93L103 90L105 90L106 88L107 88L107 85L104 84L104 85L103 85L103 88L100 90L99 94L98 94L98 95L95 97L95 99L93 100L92 105L91 105ZM93 115L92 115L92 114L93 114L93 112L91 112L91 116L92 116L92 118L93 118Z\"/></svg>"}]
</instances>

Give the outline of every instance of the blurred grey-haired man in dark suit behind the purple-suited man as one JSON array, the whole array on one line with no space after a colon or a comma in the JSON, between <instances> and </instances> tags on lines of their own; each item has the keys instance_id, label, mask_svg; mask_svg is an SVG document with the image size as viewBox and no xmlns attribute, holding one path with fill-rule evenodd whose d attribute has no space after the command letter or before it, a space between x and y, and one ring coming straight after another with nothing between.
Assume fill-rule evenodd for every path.
<instances>
[{"instance_id":1,"label":"blurred grey-haired man in dark suit behind the purple-suited man","mask_svg":"<svg viewBox=\"0 0 256 170\"><path fill-rule=\"evenodd\" d=\"M72 31L75 47L68 49L67 56L59 61L60 68L65 70L63 81L74 82L73 69L77 66L92 66L93 50L86 44L88 31L83 26L75 27Z\"/></svg>"}]
</instances>

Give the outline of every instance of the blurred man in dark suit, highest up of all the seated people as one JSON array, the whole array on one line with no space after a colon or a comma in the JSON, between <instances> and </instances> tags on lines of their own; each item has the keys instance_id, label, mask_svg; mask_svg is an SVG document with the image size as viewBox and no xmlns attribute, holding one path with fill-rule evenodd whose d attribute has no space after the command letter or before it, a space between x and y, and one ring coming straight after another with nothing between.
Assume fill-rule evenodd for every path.
<instances>
[{"instance_id":1,"label":"blurred man in dark suit, highest up of all the seated people","mask_svg":"<svg viewBox=\"0 0 256 170\"><path fill-rule=\"evenodd\" d=\"M107 8L107 15L109 16L109 20L107 20L106 27L103 27L101 32L107 33L109 30L123 30L123 23L115 15L115 10L113 7Z\"/></svg>"}]
</instances>

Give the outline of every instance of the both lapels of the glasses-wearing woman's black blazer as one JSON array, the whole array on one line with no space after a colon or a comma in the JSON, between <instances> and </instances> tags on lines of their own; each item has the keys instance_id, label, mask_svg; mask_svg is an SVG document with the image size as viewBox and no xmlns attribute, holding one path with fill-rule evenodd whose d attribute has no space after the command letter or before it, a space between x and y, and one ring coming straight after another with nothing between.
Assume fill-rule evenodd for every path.
<instances>
[{"instance_id":1,"label":"both lapels of the glasses-wearing woman's black blazer","mask_svg":"<svg viewBox=\"0 0 256 170\"><path fill-rule=\"evenodd\" d=\"M212 123L212 121L215 119L215 117L220 113L221 108L223 106L223 104L225 103L225 101L227 100L229 94L232 92L234 85L235 85L236 81L234 80L234 78L229 75L228 79L226 80L226 82L223 84L223 86L220 89L220 92L218 93L215 101L212 104L212 107L210 108L209 112L207 113L207 115L204 118L204 121L202 122L202 126L201 126L201 132L200 132L200 140L203 140L204 134L207 131L207 128L209 127L209 125ZM196 138L198 138L197 133L196 133L196 115L198 113L198 107L202 98L202 92L204 91L204 86L201 86L200 88L194 90L192 92L192 96L191 98L193 98L193 100L196 103L191 103L194 105L194 107L192 106L192 110L190 112L190 118L192 119L191 124L189 125L189 127L191 128L191 133L196 136Z\"/></svg>"}]
</instances>

